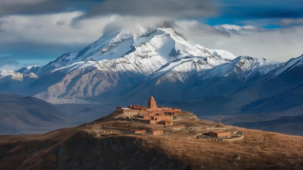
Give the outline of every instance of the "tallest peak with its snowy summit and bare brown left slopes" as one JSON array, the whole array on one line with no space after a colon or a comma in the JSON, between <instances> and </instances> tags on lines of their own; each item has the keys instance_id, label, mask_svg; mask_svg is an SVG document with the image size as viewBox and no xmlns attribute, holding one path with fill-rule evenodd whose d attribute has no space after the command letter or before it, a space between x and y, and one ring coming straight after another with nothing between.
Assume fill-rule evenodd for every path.
<instances>
[{"instance_id":1,"label":"tallest peak with its snowy summit and bare brown left slopes","mask_svg":"<svg viewBox=\"0 0 303 170\"><path fill-rule=\"evenodd\" d=\"M188 71L200 71L229 62L224 56L234 57L224 50L209 50L188 42L167 23L148 28L137 26L135 30L117 28L105 32L83 50L65 53L34 70L35 80L23 81L25 75L19 75L22 78L16 80L3 74L7 78L0 79L0 90L39 99L87 99L132 90L147 76L175 60L193 58L200 64ZM207 57L213 61L203 63Z\"/></svg>"}]
</instances>

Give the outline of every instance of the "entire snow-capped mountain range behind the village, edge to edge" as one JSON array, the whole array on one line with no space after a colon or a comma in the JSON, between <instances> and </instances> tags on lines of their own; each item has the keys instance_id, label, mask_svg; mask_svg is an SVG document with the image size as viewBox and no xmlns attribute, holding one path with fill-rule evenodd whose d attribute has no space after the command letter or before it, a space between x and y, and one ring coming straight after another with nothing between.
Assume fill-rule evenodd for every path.
<instances>
[{"instance_id":1,"label":"entire snow-capped mountain range behind the village, edge to edge","mask_svg":"<svg viewBox=\"0 0 303 170\"><path fill-rule=\"evenodd\" d=\"M51 103L158 103L198 116L261 115L303 105L303 56L279 63L193 44L172 24L108 28L45 66L0 71L0 91ZM299 116L300 113L291 116ZM256 120L258 121L258 120ZM245 121L244 121L245 122Z\"/></svg>"}]
</instances>

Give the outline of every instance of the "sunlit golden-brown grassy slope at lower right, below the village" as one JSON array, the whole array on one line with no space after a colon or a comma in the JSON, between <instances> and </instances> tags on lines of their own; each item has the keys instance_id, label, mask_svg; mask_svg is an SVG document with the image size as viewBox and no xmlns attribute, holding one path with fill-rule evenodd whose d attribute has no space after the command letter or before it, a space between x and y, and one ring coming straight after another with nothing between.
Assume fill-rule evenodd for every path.
<instances>
[{"instance_id":1,"label":"sunlit golden-brown grassy slope at lower right, below the village","mask_svg":"<svg viewBox=\"0 0 303 170\"><path fill-rule=\"evenodd\" d=\"M167 136L147 136L149 147L170 157L206 169L297 169L303 168L303 137L236 128L245 135L237 142L194 139L187 130ZM203 132L202 132L203 133ZM262 140L263 139L263 140Z\"/></svg>"}]
</instances>

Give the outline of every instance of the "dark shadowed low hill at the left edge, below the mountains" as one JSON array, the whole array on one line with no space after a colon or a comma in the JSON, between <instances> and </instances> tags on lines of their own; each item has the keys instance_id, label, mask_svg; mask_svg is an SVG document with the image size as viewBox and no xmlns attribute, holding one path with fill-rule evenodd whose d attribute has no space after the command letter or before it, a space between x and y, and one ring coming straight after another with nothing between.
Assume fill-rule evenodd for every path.
<instances>
[{"instance_id":1,"label":"dark shadowed low hill at the left edge, below the mountains","mask_svg":"<svg viewBox=\"0 0 303 170\"><path fill-rule=\"evenodd\" d=\"M80 123L50 103L0 92L0 134L42 133Z\"/></svg>"}]
</instances>

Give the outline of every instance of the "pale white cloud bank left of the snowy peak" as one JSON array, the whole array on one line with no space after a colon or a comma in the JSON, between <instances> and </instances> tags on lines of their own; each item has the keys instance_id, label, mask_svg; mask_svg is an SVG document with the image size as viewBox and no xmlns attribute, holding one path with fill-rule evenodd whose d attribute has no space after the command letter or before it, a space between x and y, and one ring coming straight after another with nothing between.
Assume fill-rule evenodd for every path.
<instances>
[{"instance_id":1,"label":"pale white cloud bank left of the snowy peak","mask_svg":"<svg viewBox=\"0 0 303 170\"><path fill-rule=\"evenodd\" d=\"M119 19L117 15L81 20L71 27L81 12L11 15L2 17L0 43L30 42L43 44L87 44L102 35L104 27Z\"/></svg>"}]
</instances>

